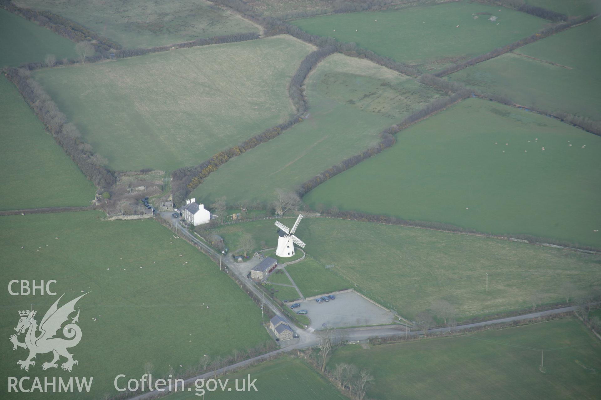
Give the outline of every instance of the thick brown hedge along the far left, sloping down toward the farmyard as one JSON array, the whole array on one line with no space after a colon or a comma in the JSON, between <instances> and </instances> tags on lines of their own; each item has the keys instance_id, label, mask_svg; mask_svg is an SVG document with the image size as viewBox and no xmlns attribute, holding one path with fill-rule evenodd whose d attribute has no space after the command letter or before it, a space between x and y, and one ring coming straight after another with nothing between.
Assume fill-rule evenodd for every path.
<instances>
[{"instance_id":1,"label":"thick brown hedge along the far left, sloping down toward the farmyard","mask_svg":"<svg viewBox=\"0 0 601 400\"><path fill-rule=\"evenodd\" d=\"M17 86L20 94L46 126L46 130L52 134L56 143L96 185L99 192L112 187L117 179L105 166L108 161L101 155L94 154L92 146L81 139L81 133L75 124L67 121L67 116L58 109L41 85L31 78L31 73L23 68L4 68L4 73Z\"/></svg>"}]
</instances>

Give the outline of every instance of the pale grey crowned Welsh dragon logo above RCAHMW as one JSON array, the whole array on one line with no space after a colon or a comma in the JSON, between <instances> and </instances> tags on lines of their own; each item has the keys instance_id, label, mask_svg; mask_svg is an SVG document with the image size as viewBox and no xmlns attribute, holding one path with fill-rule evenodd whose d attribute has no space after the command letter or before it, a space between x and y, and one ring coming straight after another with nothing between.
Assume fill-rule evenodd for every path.
<instances>
[{"instance_id":1,"label":"pale grey crowned Welsh dragon logo above RCAHMW","mask_svg":"<svg viewBox=\"0 0 601 400\"><path fill-rule=\"evenodd\" d=\"M33 359L37 354L50 353L50 351L52 351L54 358L50 362L43 363L41 369L57 368L58 364L56 362L61 356L66 357L67 359L67 361L61 365L65 371L71 372L73 365L79 364L78 360L73 360L73 354L67 351L67 348L75 347L81 340L81 329L75 324L76 322L79 322L79 307L75 318L72 318L71 323L68 323L63 327L63 335L70 340L55 338L54 336L58 333L58 330L61 329L61 325L69 320L69 314L75 312L75 303L88 293L84 293L76 299L71 300L69 303L61 306L61 308L58 308L58 302L63 298L63 294L63 296L59 297L48 311L46 311L44 317L41 318L39 327L37 321L34 319L37 311L19 311L19 323L17 324L17 327L14 328L14 330L17 331L17 334L11 335L10 341L13 342L13 350L17 350L17 347L29 349L29 356L25 360L17 361L17 365L19 365L21 369L29 371L30 365L35 366L35 361L33 361ZM41 332L40 335L37 335L38 331ZM19 339L17 338L17 335L20 335L21 333L25 333L25 342L19 342Z\"/></svg>"}]
</instances>

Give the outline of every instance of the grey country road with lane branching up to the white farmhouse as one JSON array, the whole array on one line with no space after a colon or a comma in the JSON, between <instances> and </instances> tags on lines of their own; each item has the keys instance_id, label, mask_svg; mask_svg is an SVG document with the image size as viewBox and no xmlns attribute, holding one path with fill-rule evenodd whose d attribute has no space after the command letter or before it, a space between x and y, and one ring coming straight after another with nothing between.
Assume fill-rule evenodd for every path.
<instances>
[{"instance_id":1,"label":"grey country road with lane branching up to the white farmhouse","mask_svg":"<svg viewBox=\"0 0 601 400\"><path fill-rule=\"evenodd\" d=\"M168 218L171 218L170 212L169 212ZM177 219L174 218L174 221L172 221L172 222L176 227L178 227L178 229L180 231L182 231L182 234L185 234L185 236L188 237L189 239L191 239L194 243L197 243L199 246L202 246L204 249L207 249L207 251L210 251L212 254L219 256L218 252L216 252L209 246L205 245L201 240L197 239L191 233L189 233L189 231L186 228L182 227L182 225L179 224ZM225 257L225 258L228 258L228 257ZM229 259L224 260L224 261L230 267L230 270L234 271L234 273L236 273L235 272L236 268L230 266L230 263L233 263L233 261L229 260ZM242 279L242 282L246 282L245 276L242 276L240 278ZM246 287L248 287L249 290L252 290L253 293L257 294L258 296L262 296L262 293L254 286L254 284L247 283ZM275 312L276 315L279 315L280 317L284 318L284 320L288 321L288 323L290 323L288 318L286 318L285 315L282 315L282 313L279 311L279 309L275 305L273 305L273 303L270 302L269 299L265 299L265 304L267 306L269 306L269 308L272 309L272 311ZM562 312L575 311L577 308L578 308L578 306L569 306L569 307L550 309L550 310L546 310L546 311L531 312L529 314L523 314L523 315L514 315L513 317L498 318L498 319L490 320L490 321L482 321L482 322L477 322L477 323L459 325L459 326L456 326L453 330L454 331L465 330L465 329L469 329L472 327L487 326L487 325L498 324L498 323L507 323L507 322L511 322L511 321L528 320L530 318L544 317L546 315L561 314ZM290 324L290 326L294 328L293 324ZM435 328L435 329L428 330L428 333L450 332L450 330L451 329L448 327ZM423 333L424 333L421 330L414 331L414 332L406 331L402 325L398 325L398 324L385 325L385 326L371 326L371 327L339 329L338 332L341 332L342 333L341 336L343 336L344 340L347 340L347 341L365 340L365 339L373 338L375 336L380 336L380 337L396 336L396 335L415 336L415 335L423 335ZM278 348L277 350L270 351L269 353L261 354L260 356L252 357L250 359L246 359L246 360L243 360L243 361L240 361L240 362L228 365L228 366L224 366L223 368L219 368L216 371L205 372L204 374L197 375L192 378L188 378L187 380L185 380L185 386L189 387L191 384L194 384L194 382L198 379L211 378L215 374L221 375L228 371L232 371L233 369L237 369L237 368L252 364L254 362L257 362L257 361L269 359L269 357L275 356L276 354L279 354L279 353L284 353L287 351L297 350L297 349L301 349L301 348L313 347L318 344L319 336L317 335L317 333L307 332L306 330L296 330L296 333L298 333L301 338L301 340L299 342L297 342L296 344L290 345L288 347ZM142 393L141 395L135 396L131 399L132 400L142 400L142 399L149 398L150 396L154 396L154 395L157 395L160 393L167 393L167 392L169 392L169 390L165 389L164 392L157 392L155 390L153 392Z\"/></svg>"}]
</instances>

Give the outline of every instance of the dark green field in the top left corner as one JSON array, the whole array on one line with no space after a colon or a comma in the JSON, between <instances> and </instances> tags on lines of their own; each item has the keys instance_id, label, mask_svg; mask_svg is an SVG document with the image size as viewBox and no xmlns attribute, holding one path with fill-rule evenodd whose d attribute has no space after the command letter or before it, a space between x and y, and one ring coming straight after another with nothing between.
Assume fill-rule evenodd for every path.
<instances>
[{"instance_id":1,"label":"dark green field in the top left corner","mask_svg":"<svg viewBox=\"0 0 601 400\"><path fill-rule=\"evenodd\" d=\"M0 8L0 37L0 68L44 61L47 54L57 60L76 56L75 43L4 8Z\"/></svg>"}]
</instances>

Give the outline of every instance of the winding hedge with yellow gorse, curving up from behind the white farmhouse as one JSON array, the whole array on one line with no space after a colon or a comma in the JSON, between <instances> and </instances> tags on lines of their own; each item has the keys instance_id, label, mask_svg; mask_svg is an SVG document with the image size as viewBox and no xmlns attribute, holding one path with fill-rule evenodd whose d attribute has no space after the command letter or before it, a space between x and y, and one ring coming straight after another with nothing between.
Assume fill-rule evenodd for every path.
<instances>
[{"instance_id":1,"label":"winding hedge with yellow gorse, curving up from behind the white farmhouse","mask_svg":"<svg viewBox=\"0 0 601 400\"><path fill-rule=\"evenodd\" d=\"M240 145L233 146L230 149L219 152L213 155L209 160L204 161L198 166L184 167L175 170L172 173L172 196L175 203L182 203L182 201L188 196L188 194L203 183L203 179L207 178L212 172L215 172L219 166L227 163L232 158L239 156L240 154L255 148L261 143L269 142L274 137L279 136L283 131L293 127L297 123L303 121L302 114L307 112L307 98L305 97L302 85L305 78L310 71L319 63L323 58L331 55L336 50L334 47L328 46L315 50L308 54L301 65L294 73L290 82L290 88L288 94L296 107L296 115L288 121L277 125L276 127L269 128L262 133L245 140Z\"/></svg>"}]
</instances>

